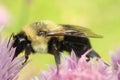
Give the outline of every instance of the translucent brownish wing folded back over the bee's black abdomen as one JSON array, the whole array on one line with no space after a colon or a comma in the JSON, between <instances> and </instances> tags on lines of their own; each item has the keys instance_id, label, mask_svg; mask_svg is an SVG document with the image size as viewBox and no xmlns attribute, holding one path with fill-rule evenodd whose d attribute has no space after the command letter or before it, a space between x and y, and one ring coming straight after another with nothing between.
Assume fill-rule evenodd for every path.
<instances>
[{"instance_id":1,"label":"translucent brownish wing folded back over the bee's black abdomen","mask_svg":"<svg viewBox=\"0 0 120 80\"><path fill-rule=\"evenodd\" d=\"M64 30L49 31L48 36L78 36L78 37L88 37L88 38L102 38L103 36L95 34L90 29L75 26L75 25L65 25L60 24Z\"/></svg>"}]
</instances>

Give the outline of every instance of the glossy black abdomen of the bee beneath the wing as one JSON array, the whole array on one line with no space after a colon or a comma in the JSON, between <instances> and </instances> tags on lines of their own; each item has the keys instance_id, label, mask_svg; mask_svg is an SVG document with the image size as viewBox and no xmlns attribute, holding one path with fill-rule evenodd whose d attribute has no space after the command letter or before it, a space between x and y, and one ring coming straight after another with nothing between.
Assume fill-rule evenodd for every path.
<instances>
[{"instance_id":1,"label":"glossy black abdomen of the bee beneath the wing","mask_svg":"<svg viewBox=\"0 0 120 80\"><path fill-rule=\"evenodd\" d=\"M61 50L66 50L69 53L74 50L78 57L81 57L82 54L91 48L89 39L85 37L65 36L61 43Z\"/></svg>"}]
</instances>

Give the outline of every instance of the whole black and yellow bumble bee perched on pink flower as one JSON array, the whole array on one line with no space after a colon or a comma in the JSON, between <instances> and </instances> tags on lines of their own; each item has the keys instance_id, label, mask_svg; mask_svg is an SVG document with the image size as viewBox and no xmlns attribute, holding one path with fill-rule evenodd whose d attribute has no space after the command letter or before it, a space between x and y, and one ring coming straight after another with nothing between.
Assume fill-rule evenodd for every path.
<instances>
[{"instance_id":1,"label":"whole black and yellow bumble bee perched on pink flower","mask_svg":"<svg viewBox=\"0 0 120 80\"><path fill-rule=\"evenodd\" d=\"M81 57L91 48L88 38L101 38L90 29L81 26L56 24L51 21L39 21L26 25L20 33L13 35L16 47L14 58L25 50L25 62L30 53L50 53L54 55L56 64L60 64L60 52L74 50ZM99 57L92 50L87 57Z\"/></svg>"}]
</instances>

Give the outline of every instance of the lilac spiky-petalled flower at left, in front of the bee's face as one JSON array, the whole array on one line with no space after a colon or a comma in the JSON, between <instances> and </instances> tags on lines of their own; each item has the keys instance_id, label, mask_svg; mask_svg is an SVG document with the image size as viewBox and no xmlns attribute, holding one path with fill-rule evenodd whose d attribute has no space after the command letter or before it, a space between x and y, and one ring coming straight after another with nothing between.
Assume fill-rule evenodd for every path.
<instances>
[{"instance_id":1,"label":"lilac spiky-petalled flower at left, in front of the bee's face","mask_svg":"<svg viewBox=\"0 0 120 80\"><path fill-rule=\"evenodd\" d=\"M0 80L17 80L17 74L25 66L22 65L24 57L12 60L15 49L11 48L11 42L7 46L7 39L1 40L0 37Z\"/></svg>"}]
</instances>

